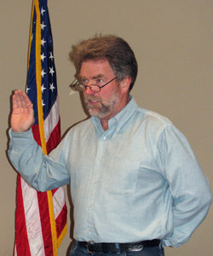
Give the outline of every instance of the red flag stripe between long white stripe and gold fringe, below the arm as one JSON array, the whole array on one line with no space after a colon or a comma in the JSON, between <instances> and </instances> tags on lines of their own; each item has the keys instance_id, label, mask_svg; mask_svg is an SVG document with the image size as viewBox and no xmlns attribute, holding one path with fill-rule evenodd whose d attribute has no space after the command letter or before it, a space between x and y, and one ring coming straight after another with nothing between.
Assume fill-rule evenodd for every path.
<instances>
[{"instance_id":1,"label":"red flag stripe between long white stripe and gold fringe, below the arm","mask_svg":"<svg viewBox=\"0 0 213 256\"><path fill-rule=\"evenodd\" d=\"M45 255L53 255L52 233L49 219L49 203L46 192L37 192L37 201L40 212L40 220L43 232L43 244Z\"/></svg>"}]
</instances>

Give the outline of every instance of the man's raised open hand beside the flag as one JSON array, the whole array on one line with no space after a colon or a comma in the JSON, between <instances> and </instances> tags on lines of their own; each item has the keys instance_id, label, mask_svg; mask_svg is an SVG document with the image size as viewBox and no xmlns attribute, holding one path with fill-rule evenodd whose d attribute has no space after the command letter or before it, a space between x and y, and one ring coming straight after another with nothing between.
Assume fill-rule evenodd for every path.
<instances>
[{"instance_id":1,"label":"man's raised open hand beside the flag","mask_svg":"<svg viewBox=\"0 0 213 256\"><path fill-rule=\"evenodd\" d=\"M16 132L29 130L35 122L32 102L25 92L15 90L12 103L13 112L10 119L12 130Z\"/></svg>"}]
</instances>

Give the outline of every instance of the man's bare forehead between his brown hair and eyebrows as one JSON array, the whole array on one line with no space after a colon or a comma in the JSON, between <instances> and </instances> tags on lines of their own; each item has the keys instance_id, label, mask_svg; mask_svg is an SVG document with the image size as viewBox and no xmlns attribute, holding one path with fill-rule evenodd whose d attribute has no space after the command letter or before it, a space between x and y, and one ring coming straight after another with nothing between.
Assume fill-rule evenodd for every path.
<instances>
[{"instance_id":1,"label":"man's bare forehead between his brown hair and eyebrows","mask_svg":"<svg viewBox=\"0 0 213 256\"><path fill-rule=\"evenodd\" d=\"M79 75L90 79L97 76L111 77L114 72L107 60L83 61Z\"/></svg>"}]
</instances>

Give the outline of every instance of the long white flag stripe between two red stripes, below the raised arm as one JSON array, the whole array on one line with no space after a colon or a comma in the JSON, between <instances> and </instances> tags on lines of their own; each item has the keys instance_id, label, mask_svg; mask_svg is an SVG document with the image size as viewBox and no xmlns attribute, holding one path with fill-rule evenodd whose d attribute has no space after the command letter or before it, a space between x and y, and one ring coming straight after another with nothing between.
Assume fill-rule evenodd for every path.
<instances>
[{"instance_id":1,"label":"long white flag stripe between two red stripes, below the raised arm","mask_svg":"<svg viewBox=\"0 0 213 256\"><path fill-rule=\"evenodd\" d=\"M32 255L43 256L43 236L37 202L37 191L21 178L21 188L26 216L26 232Z\"/></svg>"}]
</instances>

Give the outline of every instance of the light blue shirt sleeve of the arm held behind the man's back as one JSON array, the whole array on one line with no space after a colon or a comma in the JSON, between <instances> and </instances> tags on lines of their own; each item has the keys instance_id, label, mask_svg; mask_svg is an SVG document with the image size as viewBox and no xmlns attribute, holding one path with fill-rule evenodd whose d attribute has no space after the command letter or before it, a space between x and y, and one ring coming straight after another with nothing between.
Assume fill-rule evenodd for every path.
<instances>
[{"instance_id":1,"label":"light blue shirt sleeve of the arm held behind the man's back","mask_svg":"<svg viewBox=\"0 0 213 256\"><path fill-rule=\"evenodd\" d=\"M210 185L186 137L173 125L161 134L158 155L173 201L174 230L163 244L178 247L204 220L211 204Z\"/></svg>"}]
</instances>

